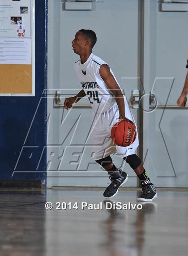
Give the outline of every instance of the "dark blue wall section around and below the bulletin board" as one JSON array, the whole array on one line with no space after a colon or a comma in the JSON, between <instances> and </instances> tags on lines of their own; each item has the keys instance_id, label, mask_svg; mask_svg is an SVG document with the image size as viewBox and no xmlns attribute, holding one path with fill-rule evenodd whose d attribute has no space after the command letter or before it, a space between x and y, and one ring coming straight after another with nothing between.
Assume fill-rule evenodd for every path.
<instances>
[{"instance_id":1,"label":"dark blue wall section around and below the bulletin board","mask_svg":"<svg viewBox=\"0 0 188 256\"><path fill-rule=\"evenodd\" d=\"M35 1L35 96L0 97L0 180L46 183L47 0Z\"/></svg>"}]
</instances>

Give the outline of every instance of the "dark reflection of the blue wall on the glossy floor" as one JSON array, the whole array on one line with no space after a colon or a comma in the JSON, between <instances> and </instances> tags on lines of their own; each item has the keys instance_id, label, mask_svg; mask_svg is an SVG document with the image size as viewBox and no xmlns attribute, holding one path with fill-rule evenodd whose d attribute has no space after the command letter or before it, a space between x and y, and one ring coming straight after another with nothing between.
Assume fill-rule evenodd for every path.
<instances>
[{"instance_id":1,"label":"dark reflection of the blue wall on the glossy floor","mask_svg":"<svg viewBox=\"0 0 188 256\"><path fill-rule=\"evenodd\" d=\"M0 190L0 256L44 256L45 191Z\"/></svg>"}]
</instances>

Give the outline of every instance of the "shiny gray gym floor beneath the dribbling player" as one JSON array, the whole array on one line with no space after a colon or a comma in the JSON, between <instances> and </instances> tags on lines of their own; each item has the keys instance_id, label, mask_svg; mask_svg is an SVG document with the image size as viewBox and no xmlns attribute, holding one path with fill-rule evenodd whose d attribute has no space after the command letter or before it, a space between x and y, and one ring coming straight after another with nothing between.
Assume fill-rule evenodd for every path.
<instances>
[{"instance_id":1,"label":"shiny gray gym floor beneath the dribbling player","mask_svg":"<svg viewBox=\"0 0 188 256\"><path fill-rule=\"evenodd\" d=\"M139 193L121 190L111 203L139 203ZM56 202L78 209L56 210ZM103 209L81 210L81 202ZM0 190L0 256L188 255L188 191L158 190L141 210L105 206L103 189Z\"/></svg>"}]
</instances>

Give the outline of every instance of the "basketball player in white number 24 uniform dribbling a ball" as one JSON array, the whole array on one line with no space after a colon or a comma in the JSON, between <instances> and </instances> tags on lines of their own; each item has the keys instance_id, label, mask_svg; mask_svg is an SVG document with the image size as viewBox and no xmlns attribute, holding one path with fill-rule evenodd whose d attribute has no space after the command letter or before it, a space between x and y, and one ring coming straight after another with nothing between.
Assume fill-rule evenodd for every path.
<instances>
[{"instance_id":1,"label":"basketball player in white number 24 uniform dribbling a ball","mask_svg":"<svg viewBox=\"0 0 188 256\"><path fill-rule=\"evenodd\" d=\"M104 191L105 198L114 197L128 175L114 165L111 154L117 152L135 171L141 180L142 192L139 201L152 201L157 197L154 184L150 182L141 160L135 154L138 147L138 137L129 147L119 147L113 144L110 132L118 119L134 122L128 102L124 98L111 68L101 58L92 53L97 41L94 31L81 29L72 41L74 53L80 56L75 63L75 70L81 82L82 90L74 97L65 99L64 108L72 107L81 98L88 95L93 110L91 142L94 145L94 160L100 164L109 175L111 184Z\"/></svg>"}]
</instances>

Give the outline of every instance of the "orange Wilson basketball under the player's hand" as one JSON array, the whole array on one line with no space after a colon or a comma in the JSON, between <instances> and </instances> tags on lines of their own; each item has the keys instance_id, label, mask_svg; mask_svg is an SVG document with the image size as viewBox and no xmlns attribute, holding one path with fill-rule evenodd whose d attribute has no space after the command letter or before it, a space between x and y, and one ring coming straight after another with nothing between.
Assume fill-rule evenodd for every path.
<instances>
[{"instance_id":1,"label":"orange Wilson basketball under the player's hand","mask_svg":"<svg viewBox=\"0 0 188 256\"><path fill-rule=\"evenodd\" d=\"M130 146L136 137L136 127L127 121L119 121L111 128L111 139L118 146Z\"/></svg>"}]
</instances>

